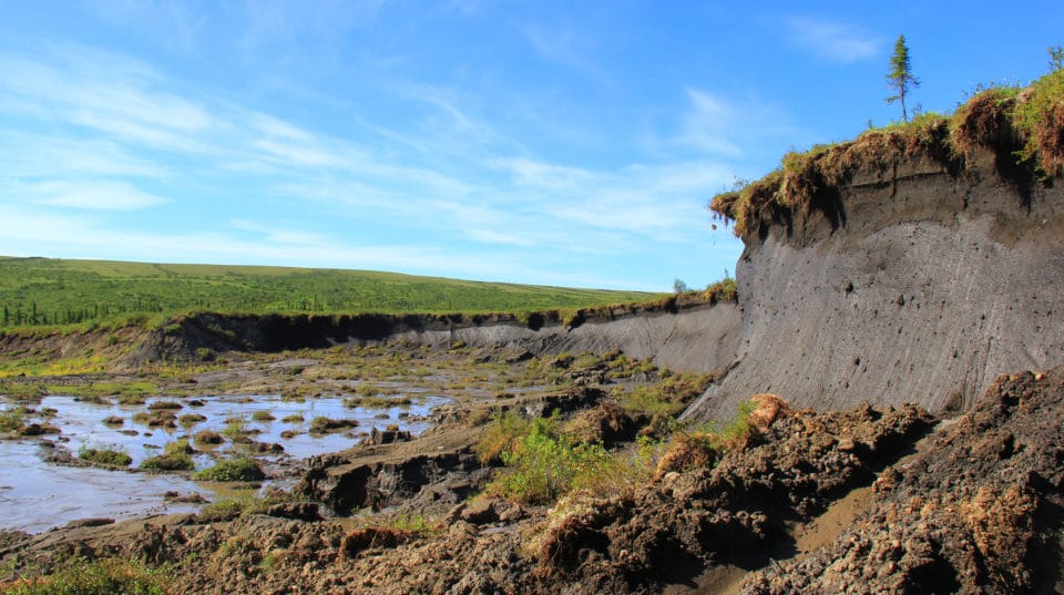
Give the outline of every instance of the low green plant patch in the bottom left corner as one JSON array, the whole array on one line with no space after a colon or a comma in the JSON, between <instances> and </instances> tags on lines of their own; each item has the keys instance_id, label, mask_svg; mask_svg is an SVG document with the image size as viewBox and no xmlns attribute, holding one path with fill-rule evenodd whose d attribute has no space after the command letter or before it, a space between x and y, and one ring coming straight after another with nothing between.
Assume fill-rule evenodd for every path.
<instances>
[{"instance_id":1,"label":"low green plant patch in the bottom left corner","mask_svg":"<svg viewBox=\"0 0 1064 595\"><path fill-rule=\"evenodd\" d=\"M167 568L106 558L76 558L62 570L37 578L0 586L2 595L165 595L171 582Z\"/></svg>"}]
</instances>

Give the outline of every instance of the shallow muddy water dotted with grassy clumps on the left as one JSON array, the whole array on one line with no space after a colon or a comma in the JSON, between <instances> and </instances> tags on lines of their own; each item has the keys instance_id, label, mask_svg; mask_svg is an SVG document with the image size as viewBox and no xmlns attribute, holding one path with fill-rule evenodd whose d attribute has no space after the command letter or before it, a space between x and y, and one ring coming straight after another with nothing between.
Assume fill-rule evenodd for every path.
<instances>
[{"instance_id":1,"label":"shallow muddy water dotted with grassy clumps on the left","mask_svg":"<svg viewBox=\"0 0 1064 595\"><path fill-rule=\"evenodd\" d=\"M222 432L233 420L242 421L257 442L277 443L284 448L279 454L257 456L266 469L276 474L284 465L323 452L350 448L374 427L383 429L398 424L400 429L420 433L428 429L424 421L431 409L447 401L446 398L427 393L408 394L413 404L385 409L347 408L340 398L307 399L303 402L285 401L279 396L254 397L201 397L203 404L190 406L193 399L150 399L143 406L90 403L71 397L47 397L32 416L33 421L44 421L40 412L54 409L48 422L60 429L59 435L47 435L58 448L66 448L74 454L82 447L110 448L132 456L132 468L144 459L161 454L165 444L182 438L192 438L202 430ZM206 418L194 425L176 429L149 428L134 421L134 416L147 410L156 401L182 403L174 411L178 417L197 413ZM3 407L0 407L3 408ZM6 409L6 408L4 408ZM273 421L255 421L256 411L267 411ZM283 421L288 416L301 416L303 421ZM358 425L349 431L316 435L308 433L316 417L354 419ZM122 419L122 424L105 424L109 417ZM283 438L282 433L296 435ZM91 468L74 468L44 462L50 449L39 445L38 439L0 441L0 529L39 532L70 521L90 516L125 519L158 512L191 512L188 504L166 503L166 492L188 494L198 492L208 500L215 499L215 488L197 483L176 474L150 474L127 471L108 471ZM211 451L193 455L197 469L211 466L215 460L234 454L228 440Z\"/></svg>"}]
</instances>

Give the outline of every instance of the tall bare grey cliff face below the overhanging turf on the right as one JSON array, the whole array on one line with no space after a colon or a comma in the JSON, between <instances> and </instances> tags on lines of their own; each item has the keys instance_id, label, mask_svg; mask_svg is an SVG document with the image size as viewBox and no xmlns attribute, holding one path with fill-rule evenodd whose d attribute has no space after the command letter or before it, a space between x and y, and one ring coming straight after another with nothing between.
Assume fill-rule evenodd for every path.
<instances>
[{"instance_id":1,"label":"tall bare grey cliff face below the overhanging turf on the right","mask_svg":"<svg viewBox=\"0 0 1064 595\"><path fill-rule=\"evenodd\" d=\"M998 373L1064 362L1064 187L1010 158L918 147L805 204L747 206L736 361L686 416L757 392L961 410Z\"/></svg>"}]
</instances>

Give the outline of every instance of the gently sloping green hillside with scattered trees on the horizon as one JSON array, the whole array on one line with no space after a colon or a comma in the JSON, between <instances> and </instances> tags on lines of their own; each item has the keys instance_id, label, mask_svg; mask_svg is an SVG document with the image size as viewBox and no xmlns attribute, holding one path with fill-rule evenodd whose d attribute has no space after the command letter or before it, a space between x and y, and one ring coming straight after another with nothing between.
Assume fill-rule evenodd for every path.
<instances>
[{"instance_id":1,"label":"gently sloping green hillside with scattered trees on the horizon","mask_svg":"<svg viewBox=\"0 0 1064 595\"><path fill-rule=\"evenodd\" d=\"M71 325L190 310L521 312L657 296L364 270L0 257L0 327Z\"/></svg>"}]
</instances>

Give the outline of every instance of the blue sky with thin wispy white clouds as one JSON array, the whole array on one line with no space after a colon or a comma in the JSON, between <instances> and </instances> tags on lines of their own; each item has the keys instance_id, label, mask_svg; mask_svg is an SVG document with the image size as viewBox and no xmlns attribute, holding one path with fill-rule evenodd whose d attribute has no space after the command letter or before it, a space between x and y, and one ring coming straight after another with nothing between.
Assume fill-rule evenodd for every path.
<instances>
[{"instance_id":1,"label":"blue sky with thin wispy white clouds","mask_svg":"<svg viewBox=\"0 0 1064 595\"><path fill-rule=\"evenodd\" d=\"M706 202L1025 83L1064 2L0 0L0 254L669 290Z\"/></svg>"}]
</instances>

